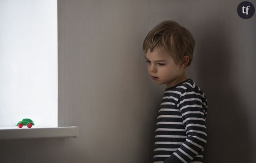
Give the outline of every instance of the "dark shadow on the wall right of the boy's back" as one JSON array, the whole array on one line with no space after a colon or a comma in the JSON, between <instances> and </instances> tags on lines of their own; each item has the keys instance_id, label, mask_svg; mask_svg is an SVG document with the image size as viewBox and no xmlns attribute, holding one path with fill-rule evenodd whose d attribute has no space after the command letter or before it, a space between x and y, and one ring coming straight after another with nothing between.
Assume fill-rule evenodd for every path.
<instances>
[{"instance_id":1,"label":"dark shadow on the wall right of the boy's back","mask_svg":"<svg viewBox=\"0 0 256 163\"><path fill-rule=\"evenodd\" d=\"M196 73L208 101L204 163L252 162L245 102L233 83L236 79L229 75L235 68L230 59L236 58L226 36L228 30L228 25L220 21L204 22L198 37L202 40L196 43L199 63Z\"/></svg>"}]
</instances>

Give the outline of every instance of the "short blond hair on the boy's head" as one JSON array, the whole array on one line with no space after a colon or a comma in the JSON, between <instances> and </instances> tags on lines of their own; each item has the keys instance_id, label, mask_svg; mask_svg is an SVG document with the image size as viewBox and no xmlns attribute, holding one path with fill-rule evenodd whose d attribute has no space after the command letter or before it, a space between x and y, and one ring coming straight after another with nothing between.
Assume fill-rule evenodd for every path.
<instances>
[{"instance_id":1,"label":"short blond hair on the boy's head","mask_svg":"<svg viewBox=\"0 0 256 163\"><path fill-rule=\"evenodd\" d=\"M188 29L175 21L164 21L156 25L146 36L143 42L143 51L146 54L154 49L163 49L178 63L182 63L185 55L189 57L188 64L192 62L195 39Z\"/></svg>"}]
</instances>

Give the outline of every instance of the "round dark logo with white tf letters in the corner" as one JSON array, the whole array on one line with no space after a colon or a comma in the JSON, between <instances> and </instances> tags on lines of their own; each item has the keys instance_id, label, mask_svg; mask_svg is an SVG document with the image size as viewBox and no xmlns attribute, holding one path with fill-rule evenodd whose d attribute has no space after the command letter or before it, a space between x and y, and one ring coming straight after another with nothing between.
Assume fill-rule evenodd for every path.
<instances>
[{"instance_id":1,"label":"round dark logo with white tf letters in the corner","mask_svg":"<svg viewBox=\"0 0 256 163\"><path fill-rule=\"evenodd\" d=\"M244 19L251 18L255 12L255 8L251 2L243 1L237 6L237 14Z\"/></svg>"}]
</instances>

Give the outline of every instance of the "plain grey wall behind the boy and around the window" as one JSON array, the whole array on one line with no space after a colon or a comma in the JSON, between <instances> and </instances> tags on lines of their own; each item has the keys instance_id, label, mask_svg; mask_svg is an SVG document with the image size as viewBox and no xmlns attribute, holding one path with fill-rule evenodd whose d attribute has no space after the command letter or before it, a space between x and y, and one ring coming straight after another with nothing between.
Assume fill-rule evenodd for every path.
<instances>
[{"instance_id":1,"label":"plain grey wall behind the boy and around the window","mask_svg":"<svg viewBox=\"0 0 256 163\"><path fill-rule=\"evenodd\" d=\"M59 0L59 125L79 136L0 141L0 163L150 163L165 85L142 43L168 19L196 40L186 71L208 98L205 163L255 163L256 15L238 17L240 2Z\"/></svg>"}]
</instances>

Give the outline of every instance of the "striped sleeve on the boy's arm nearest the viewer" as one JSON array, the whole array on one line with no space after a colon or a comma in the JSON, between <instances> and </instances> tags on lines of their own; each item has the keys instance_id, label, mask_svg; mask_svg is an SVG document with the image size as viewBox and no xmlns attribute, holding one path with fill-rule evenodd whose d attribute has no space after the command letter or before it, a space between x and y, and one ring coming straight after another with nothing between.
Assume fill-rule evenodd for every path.
<instances>
[{"instance_id":1,"label":"striped sleeve on the boy's arm nearest the viewer","mask_svg":"<svg viewBox=\"0 0 256 163\"><path fill-rule=\"evenodd\" d=\"M207 140L205 100L199 90L186 89L182 92L177 107L181 111L187 138L164 163L189 163L203 150Z\"/></svg>"}]
</instances>

